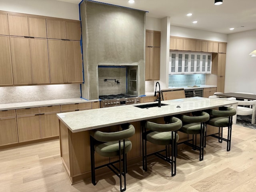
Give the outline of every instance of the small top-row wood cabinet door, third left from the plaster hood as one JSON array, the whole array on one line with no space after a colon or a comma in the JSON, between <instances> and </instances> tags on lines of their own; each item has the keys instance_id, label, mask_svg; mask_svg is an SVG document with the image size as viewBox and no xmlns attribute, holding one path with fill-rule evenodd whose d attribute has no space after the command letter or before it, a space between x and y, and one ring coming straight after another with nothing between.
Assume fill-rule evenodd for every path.
<instances>
[{"instance_id":1,"label":"small top-row wood cabinet door, third left from the plaster hood","mask_svg":"<svg viewBox=\"0 0 256 192\"><path fill-rule=\"evenodd\" d=\"M46 19L29 17L28 26L30 37L47 38Z\"/></svg>"}]
</instances>

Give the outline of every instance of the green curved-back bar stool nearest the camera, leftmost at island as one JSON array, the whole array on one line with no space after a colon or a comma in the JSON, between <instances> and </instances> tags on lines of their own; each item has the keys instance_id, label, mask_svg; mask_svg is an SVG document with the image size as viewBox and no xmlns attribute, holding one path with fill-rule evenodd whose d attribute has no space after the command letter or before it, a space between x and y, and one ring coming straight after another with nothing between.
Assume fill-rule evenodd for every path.
<instances>
[{"instance_id":1,"label":"green curved-back bar stool nearest the camera, leftmost at island","mask_svg":"<svg viewBox=\"0 0 256 192\"><path fill-rule=\"evenodd\" d=\"M126 190L126 153L132 149L132 142L128 138L134 135L135 128L132 124L122 124L121 127L122 130L118 132L90 131L90 149L92 184L96 185L95 170L107 166L119 177L120 191L122 192ZM94 152L104 157L118 156L119 160L95 167ZM114 166L114 163L117 162L119 162L119 168ZM122 162L123 166L121 166ZM124 177L124 188L122 188L122 176Z\"/></svg>"}]
</instances>

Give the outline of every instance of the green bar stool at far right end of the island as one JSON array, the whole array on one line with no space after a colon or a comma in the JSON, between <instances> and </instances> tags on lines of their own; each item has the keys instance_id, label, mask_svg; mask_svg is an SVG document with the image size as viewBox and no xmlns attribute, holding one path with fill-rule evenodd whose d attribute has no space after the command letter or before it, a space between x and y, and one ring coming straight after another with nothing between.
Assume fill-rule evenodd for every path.
<instances>
[{"instance_id":1,"label":"green bar stool at far right end of the island","mask_svg":"<svg viewBox=\"0 0 256 192\"><path fill-rule=\"evenodd\" d=\"M219 110L210 110L210 120L206 123L214 127L218 127L219 131L216 134L210 134L214 138L218 138L221 143L222 140L227 142L227 151L230 151L231 132L232 132L232 116L236 114L236 110L232 107L220 107ZM223 127L228 128L227 138L223 138Z\"/></svg>"}]
</instances>

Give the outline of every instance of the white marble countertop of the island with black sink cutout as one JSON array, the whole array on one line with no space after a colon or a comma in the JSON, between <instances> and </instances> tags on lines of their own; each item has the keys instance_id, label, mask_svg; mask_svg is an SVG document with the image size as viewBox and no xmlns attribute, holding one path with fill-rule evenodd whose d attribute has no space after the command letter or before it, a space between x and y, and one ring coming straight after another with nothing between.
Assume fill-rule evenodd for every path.
<instances>
[{"instance_id":1,"label":"white marble countertop of the island with black sink cutout","mask_svg":"<svg viewBox=\"0 0 256 192\"><path fill-rule=\"evenodd\" d=\"M146 104L152 103L157 104L157 102L150 102ZM162 101L162 103L168 105L160 108L138 108L136 106L144 104L133 104L58 113L57 116L72 132L81 132L128 122L136 122L151 118L237 104L236 101L217 100L202 97L166 100ZM177 108L177 106L180 106L180 108Z\"/></svg>"}]
</instances>

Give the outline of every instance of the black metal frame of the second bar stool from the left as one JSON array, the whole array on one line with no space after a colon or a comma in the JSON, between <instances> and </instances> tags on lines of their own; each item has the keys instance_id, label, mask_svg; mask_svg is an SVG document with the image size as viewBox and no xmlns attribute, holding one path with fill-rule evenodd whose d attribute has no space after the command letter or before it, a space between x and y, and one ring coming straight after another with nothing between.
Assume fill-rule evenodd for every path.
<instances>
[{"instance_id":1,"label":"black metal frame of the second bar stool from the left","mask_svg":"<svg viewBox=\"0 0 256 192\"><path fill-rule=\"evenodd\" d=\"M154 152L151 154L147 155L147 134L153 132L153 131L147 131L145 126L142 126L142 167L144 171L148 170L147 167L147 157L155 155L162 160L165 160L166 162L171 164L171 171L172 171L172 176L176 175L176 154L177 154L177 144L176 144L176 134L177 131L172 131L172 144L171 144L171 154L170 154L170 145L165 146L165 149L160 150L158 152ZM174 137L173 137L174 134ZM174 142L175 141L175 142ZM161 152L165 152L165 156L161 154ZM172 158L170 158L170 156Z\"/></svg>"}]
</instances>

